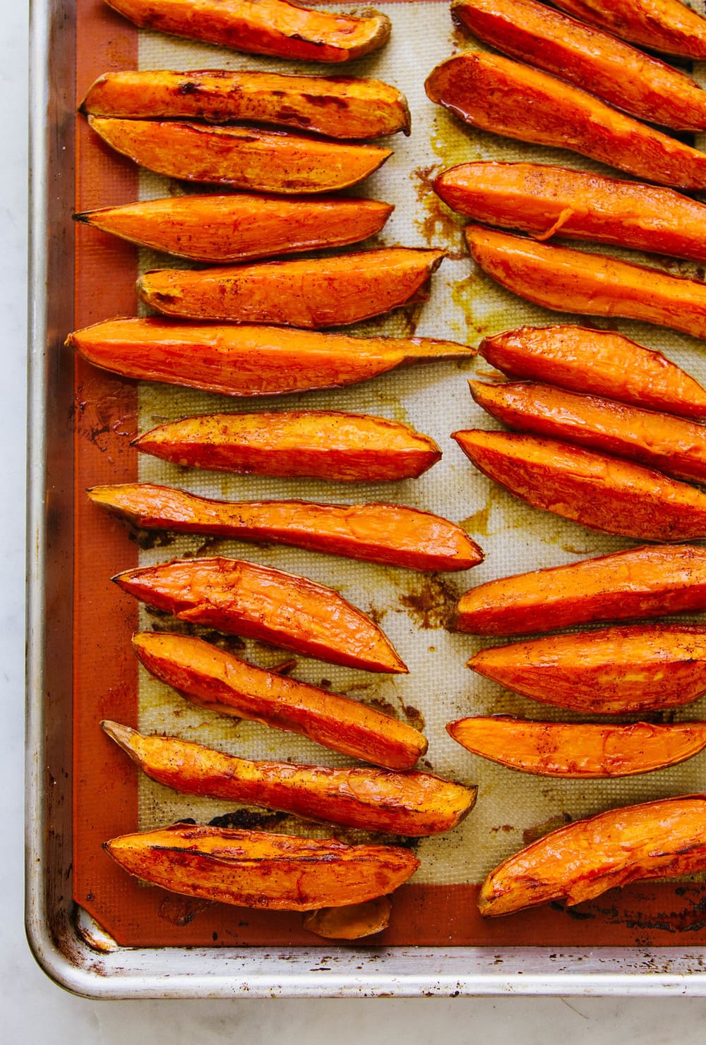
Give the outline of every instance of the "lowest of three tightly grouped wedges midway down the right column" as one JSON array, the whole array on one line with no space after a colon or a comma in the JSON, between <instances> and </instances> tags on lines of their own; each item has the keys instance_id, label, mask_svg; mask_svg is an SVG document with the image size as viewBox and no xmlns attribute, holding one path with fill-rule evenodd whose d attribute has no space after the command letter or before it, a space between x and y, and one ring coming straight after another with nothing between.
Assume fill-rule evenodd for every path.
<instances>
[{"instance_id":1,"label":"lowest of three tightly grouped wedges midway down the right column","mask_svg":"<svg viewBox=\"0 0 706 1045\"><path fill-rule=\"evenodd\" d=\"M706 537L706 493L632 461L508 432L453 436L486 475L533 508L638 540Z\"/></svg>"}]
</instances>

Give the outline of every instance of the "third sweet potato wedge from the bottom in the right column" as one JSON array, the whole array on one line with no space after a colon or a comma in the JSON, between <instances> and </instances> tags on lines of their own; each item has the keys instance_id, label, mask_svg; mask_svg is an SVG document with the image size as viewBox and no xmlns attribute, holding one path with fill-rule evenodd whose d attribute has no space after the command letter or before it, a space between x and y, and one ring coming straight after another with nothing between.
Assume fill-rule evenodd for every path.
<instances>
[{"instance_id":1,"label":"third sweet potato wedge from the bottom in the right column","mask_svg":"<svg viewBox=\"0 0 706 1045\"><path fill-rule=\"evenodd\" d=\"M615 625L494 646L468 663L532 700L595 715L688 704L706 693L706 628Z\"/></svg>"}]
</instances>

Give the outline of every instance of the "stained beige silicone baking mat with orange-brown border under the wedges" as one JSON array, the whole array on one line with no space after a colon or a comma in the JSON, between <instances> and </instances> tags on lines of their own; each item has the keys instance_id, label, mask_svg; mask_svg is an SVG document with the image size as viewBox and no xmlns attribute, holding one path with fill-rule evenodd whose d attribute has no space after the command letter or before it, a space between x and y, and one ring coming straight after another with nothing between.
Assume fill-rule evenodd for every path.
<instances>
[{"instance_id":1,"label":"stained beige silicone baking mat with orange-brown border under the wedges","mask_svg":"<svg viewBox=\"0 0 706 1045\"><path fill-rule=\"evenodd\" d=\"M575 321L574 317L528 305L479 273L463 246L463 220L437 200L431 181L440 170L475 159L522 158L577 168L599 166L572 154L472 131L432 104L424 92L426 75L453 52L480 45L454 29L445 2L416 0L379 6L392 19L392 40L383 51L357 62L351 72L377 76L405 92L412 113L412 134L409 138L389 139L393 156L355 190L355 194L386 200L395 207L385 229L366 246L436 246L448 256L433 277L428 303L397 310L361 325L359 330L415 332L476 345L484 334L524 323ZM76 103L97 75L117 69L277 69L318 74L338 71L241 55L157 32L138 32L98 0L78 0L77 7ZM189 189L183 184L146 171L138 173L134 164L104 146L78 117L77 210L184 191ZM645 263L703 278L703 272L683 262L647 260L623 253ZM137 251L83 225L76 228L75 258L76 327L111 316L136 315L134 280L138 272L182 265L174 258ZM619 329L641 344L659 348L694 376L706 379L702 351L693 339L630 322L595 325ZM552 781L515 773L475 758L446 733L447 722L471 714L504 712L527 718L572 718L570 713L503 691L464 667L482 643L446 629L445 622L457 597L472 584L489 578L631 544L526 507L468 462L450 434L464 427L497 426L473 403L468 390L468 377L495 373L484 361L471 366L441 364L409 369L350 389L259 401L146 382L138 387L103 374L81 359L76 359L75 372L74 899L118 943L311 946L318 937L302 929L299 914L209 905L144 887L103 852L101 843L107 838L184 817L199 822L218 817L223 823L256 825L317 837L363 838L360 833L303 825L279 813L237 810L221 802L178 795L140 775L101 733L99 720L111 718L142 732L181 736L245 758L349 764L343 756L303 738L195 707L141 669L138 671L130 648L132 632L138 628L174 630L179 625L139 608L110 582L110 577L138 563L208 554L250 559L303 574L337 588L371 613L408 665L409 675L379 676L300 657L296 658L294 675L347 693L423 728L429 739L429 752L419 767L478 785L477 805L462 825L445 835L413 842L422 865L412 881L395 893L390 928L365 940L365 946L683 946L685 935L689 944L706 939L706 918L702 913L706 893L693 880L613 890L577 908L554 905L487 923L478 916L478 884L493 866L526 841L570 818L611 806L700 791L706 758L699 756L671 769L639 777ZM432 436L443 457L418 480L354 486L199 472L146 455L138 460L130 446L138 432L163 420L273 407L384 415ZM99 483L138 478L233 500L295 496L346 503L398 502L460 521L482 545L485 561L460 574L423 575L291 548L204 541L198 536L153 534L150 539L138 540L122 524L90 505L84 492ZM266 667L288 658L256 643L209 637ZM697 719L703 715L702 701L669 711L656 720Z\"/></svg>"}]
</instances>

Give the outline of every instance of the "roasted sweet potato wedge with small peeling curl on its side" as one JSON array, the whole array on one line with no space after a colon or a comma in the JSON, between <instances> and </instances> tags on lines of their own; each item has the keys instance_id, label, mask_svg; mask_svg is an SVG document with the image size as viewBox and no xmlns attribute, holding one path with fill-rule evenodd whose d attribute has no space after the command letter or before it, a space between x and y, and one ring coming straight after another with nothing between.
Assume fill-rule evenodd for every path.
<instances>
[{"instance_id":1,"label":"roasted sweet potato wedge with small peeling curl on its side","mask_svg":"<svg viewBox=\"0 0 706 1045\"><path fill-rule=\"evenodd\" d=\"M445 170L434 190L461 214L533 239L560 235L706 261L699 231L706 206L674 189L548 163L480 160Z\"/></svg>"}]
</instances>

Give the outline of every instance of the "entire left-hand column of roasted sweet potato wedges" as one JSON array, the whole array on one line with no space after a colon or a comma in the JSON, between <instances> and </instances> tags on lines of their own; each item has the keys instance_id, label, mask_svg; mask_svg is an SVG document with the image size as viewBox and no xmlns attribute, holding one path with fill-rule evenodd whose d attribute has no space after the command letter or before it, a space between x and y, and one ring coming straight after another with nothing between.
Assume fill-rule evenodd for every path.
<instances>
[{"instance_id":1,"label":"entire left-hand column of roasted sweet potato wedges","mask_svg":"<svg viewBox=\"0 0 706 1045\"><path fill-rule=\"evenodd\" d=\"M201 39L226 43L235 40L237 45L258 52L315 55L325 61L355 57L381 46L389 36L389 20L384 16L337 17L302 10L280 0L235 5L237 10L221 4L217 11L207 3L196 8L172 4L167 15L157 9L159 5L153 5L149 13L140 9L139 3L117 6L138 24L180 32L188 22L189 33ZM152 169L259 192L323 192L346 187L375 169L390 150L300 134L213 126L214 121L255 120L335 138L370 138L409 131L405 99L377 80L266 73L123 73L101 77L82 108L106 141ZM161 120L161 116L168 119ZM185 117L207 122L187 121ZM176 122L178 119L183 122ZM251 193L154 201L78 217L182 257L228 262L356 242L380 231L390 212L388 205L377 201L290 201ZM138 282L138 294L158 310L188 318L317 328L356 322L390 307L425 300L425 283L441 256L435 251L397 250L316 263L241 266L203 275L163 271L143 277ZM354 353L351 366L354 345L349 338L312 340L301 331L292 331L288 336L287 331L246 327L213 332L212 328L139 320L99 327L99 333L93 328L88 339L72 336L73 344L82 342L84 354L93 363L107 364L109 369L131 376L166 380L180 380L186 365L187 370L190 366L190 382L197 387L241 395L293 391L312 380L324 386L348 384L408 361L447 357L450 353L458 356L461 352L460 346L417 341L389 344L379 339L356 343L360 351ZM131 335L132 372L130 364L121 370L121 361L112 366L120 355L116 339L124 342ZM86 350L87 340L92 351ZM193 372L195 366L198 373ZM215 427L205 435L213 449L215 435L226 421L211 420ZM318 457L321 460L315 467L326 467L333 479L355 479L356 469L361 467L373 472L378 468L379 478L390 466L400 471L400 477L415 474L439 456L430 440L417 437L411 429L386 425L383 419L334 415L318 418L305 414L289 419L274 417L272 424L277 431L270 428L271 438L264 443L261 421L267 419L250 420L248 425L247 418L241 418L245 458L254 454L265 461L274 452L275 458L279 457L279 463L270 469L274 474L295 468L306 431L316 431L320 444L333 440L333 456L322 457L320 446L311 447L309 452L309 467ZM289 432L288 421L294 433ZM205 422L202 419L201 427ZM267 424L265 428L267 436ZM341 428L347 432L348 448L343 447L336 465L336 437ZM248 448L253 440L254 445ZM188 438L183 442L182 457L189 454ZM145 447L149 443L150 438ZM362 462L356 462L356 450L362 454ZM248 469L245 458L242 464ZM377 458L382 459L382 465ZM124 492L120 491L122 505ZM132 491L133 503L136 495L138 501L141 497L141 512L145 510L144 492L144 488ZM317 506L300 505L297 511L296 506L272 504L240 506L241 511L238 506L221 505L213 510L212 504L189 498L181 491L152 488L151 492L157 494L152 498L153 508L159 502L158 521L169 510L179 514L180 505L183 508L183 502L188 501L195 510L191 514L196 516L196 529L209 516L210 525L221 530L241 527L253 536L259 533L261 539L265 531L279 529L284 540L289 536L323 548L327 542L347 542L379 561L388 561L390 555L394 560L398 554L403 560L407 556L409 564L417 554L415 541L410 539L410 522L416 522L418 515L426 530L418 554L423 558L428 554L429 564L437 555L443 560L461 553L457 567L462 564L463 554L466 560L471 556L470 564L480 558L479 550L458 528L395 506L386 506L387 519L384 512L381 518L374 506L319 506L318 513ZM106 490L94 491L94 496L103 496L105 502ZM384 532L385 524L391 521L398 524L402 531L397 543L403 547L398 550L386 547L390 540ZM405 549L405 544L410 547ZM195 571L199 572L199 582ZM127 590L153 604L156 601L162 608L175 596L178 605L170 608L181 619L198 621L210 613L225 630L235 625L241 633L299 652L318 653L373 670L406 670L369 619L337 593L322 589L305 578L219 559L167 564L168 577L164 567L161 573L158 567L156 573L162 578L158 595L159 581L154 576L145 578L144 571L133 572L130 577L121 575L117 580ZM191 596L201 590L201 597L196 602L191 599L188 606L184 598L179 600L179 593L175 595L179 578L182 588L188 588ZM181 590L182 597L184 594ZM174 737L142 737L128 726L105 722L106 732L145 772L164 784L188 793L255 803L308 818L412 835L448 830L473 806L473 788L429 773L400 771L411 770L418 754L426 750L425 738L410 726L347 698L251 668L200 640L138 635L135 649L158 677L207 706L303 733L336 750L387 767L335 770L252 762ZM113 839L106 849L121 866L147 881L210 901L310 911L313 919L308 919L309 926L337 937L383 928L389 918L389 904L386 910L382 898L418 865L414 855L400 846L346 846L333 839L321 842L182 826ZM372 908L367 903L370 899L375 900ZM361 903L362 909L357 906ZM316 910L322 905L344 911L338 916L334 911L333 927L332 911ZM350 905L356 905L352 910Z\"/></svg>"}]
</instances>

